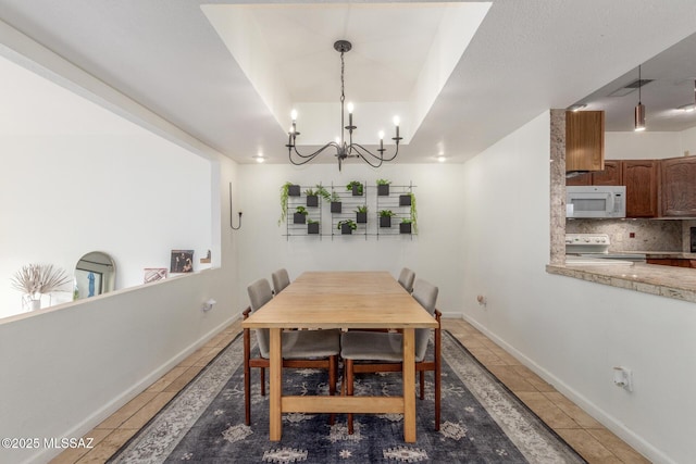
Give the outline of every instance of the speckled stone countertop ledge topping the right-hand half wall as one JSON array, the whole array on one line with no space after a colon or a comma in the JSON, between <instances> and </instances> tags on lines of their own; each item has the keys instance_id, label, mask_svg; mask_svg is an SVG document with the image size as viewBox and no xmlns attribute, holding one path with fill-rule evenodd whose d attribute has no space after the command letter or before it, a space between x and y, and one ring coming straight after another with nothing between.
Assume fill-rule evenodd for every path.
<instances>
[{"instance_id":1,"label":"speckled stone countertop ledge topping the right-hand half wall","mask_svg":"<svg viewBox=\"0 0 696 464\"><path fill-rule=\"evenodd\" d=\"M646 254L652 258L654 253L647 252ZM696 253L674 253L696 256ZM671 252L656 254L658 256L675 258ZM629 266L572 265L567 263L548 264L546 272L696 303L696 268L645 263L633 263L633 265Z\"/></svg>"}]
</instances>

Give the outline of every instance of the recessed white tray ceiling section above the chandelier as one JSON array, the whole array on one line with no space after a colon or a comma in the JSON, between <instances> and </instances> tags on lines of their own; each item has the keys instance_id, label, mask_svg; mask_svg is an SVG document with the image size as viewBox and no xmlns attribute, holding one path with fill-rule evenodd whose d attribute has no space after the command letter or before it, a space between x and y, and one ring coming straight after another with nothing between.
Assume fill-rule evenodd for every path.
<instances>
[{"instance_id":1,"label":"recessed white tray ceiling section above the chandelier","mask_svg":"<svg viewBox=\"0 0 696 464\"><path fill-rule=\"evenodd\" d=\"M450 2L201 8L278 125L286 130L290 110L297 110L298 142L323 146L347 125L340 121L336 40L351 43L345 53L345 96L346 103L356 104L353 124L359 130L353 140L374 143L380 130L388 134L396 115L402 142L409 143L489 7ZM383 24L389 27L378 27Z\"/></svg>"}]
</instances>

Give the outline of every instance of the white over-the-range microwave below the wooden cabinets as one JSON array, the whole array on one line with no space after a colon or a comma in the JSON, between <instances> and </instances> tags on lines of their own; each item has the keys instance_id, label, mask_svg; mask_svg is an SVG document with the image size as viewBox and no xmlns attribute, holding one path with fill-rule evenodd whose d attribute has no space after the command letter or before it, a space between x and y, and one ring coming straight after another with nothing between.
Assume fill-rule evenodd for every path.
<instances>
[{"instance_id":1,"label":"white over-the-range microwave below the wooden cabinets","mask_svg":"<svg viewBox=\"0 0 696 464\"><path fill-rule=\"evenodd\" d=\"M625 186L566 187L566 217L625 217Z\"/></svg>"}]
</instances>

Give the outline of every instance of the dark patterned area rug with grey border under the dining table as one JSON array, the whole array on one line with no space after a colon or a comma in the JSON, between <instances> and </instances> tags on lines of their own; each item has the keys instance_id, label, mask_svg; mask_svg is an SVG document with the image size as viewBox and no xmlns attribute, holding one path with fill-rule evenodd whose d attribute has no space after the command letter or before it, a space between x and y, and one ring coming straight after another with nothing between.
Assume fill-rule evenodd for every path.
<instances>
[{"instance_id":1,"label":"dark patterned area rug with grey border under the dining table","mask_svg":"<svg viewBox=\"0 0 696 464\"><path fill-rule=\"evenodd\" d=\"M284 414L283 439L271 442L268 397L260 394L258 371L252 369L251 427L244 424L243 346L237 337L110 462L585 462L446 331L440 430L434 430L430 373L426 398L417 400L415 443L403 442L400 414L356 415L353 435L347 434L343 414L334 426L325 414ZM285 369L283 379L286 394L327 394L326 375L320 371ZM356 394L400 391L398 373L356 379Z\"/></svg>"}]
</instances>

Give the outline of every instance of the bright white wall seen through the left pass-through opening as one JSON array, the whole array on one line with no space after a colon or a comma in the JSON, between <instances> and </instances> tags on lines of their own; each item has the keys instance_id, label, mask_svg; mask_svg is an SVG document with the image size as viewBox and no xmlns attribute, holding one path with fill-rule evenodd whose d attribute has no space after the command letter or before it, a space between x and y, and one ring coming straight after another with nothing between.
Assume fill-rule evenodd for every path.
<instances>
[{"instance_id":1,"label":"bright white wall seen through the left pass-through opening","mask_svg":"<svg viewBox=\"0 0 696 464\"><path fill-rule=\"evenodd\" d=\"M172 249L195 250L200 267L211 249L211 163L142 133L0 137L0 317L23 311L10 277L28 263L73 275L82 255L103 251L116 288L142 284L145 267L169 268Z\"/></svg>"}]
</instances>

